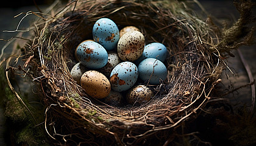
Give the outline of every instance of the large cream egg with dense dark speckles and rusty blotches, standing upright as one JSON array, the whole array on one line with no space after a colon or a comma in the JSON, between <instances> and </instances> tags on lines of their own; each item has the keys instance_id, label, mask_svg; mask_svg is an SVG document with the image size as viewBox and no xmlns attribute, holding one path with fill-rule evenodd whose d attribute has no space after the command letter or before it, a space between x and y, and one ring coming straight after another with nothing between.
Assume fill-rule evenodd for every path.
<instances>
[{"instance_id":1,"label":"large cream egg with dense dark speckles and rusty blotches, standing upright","mask_svg":"<svg viewBox=\"0 0 256 146\"><path fill-rule=\"evenodd\" d=\"M141 32L132 30L124 33L118 41L118 56L123 61L135 61L142 55L144 46L145 38Z\"/></svg>"}]
</instances>

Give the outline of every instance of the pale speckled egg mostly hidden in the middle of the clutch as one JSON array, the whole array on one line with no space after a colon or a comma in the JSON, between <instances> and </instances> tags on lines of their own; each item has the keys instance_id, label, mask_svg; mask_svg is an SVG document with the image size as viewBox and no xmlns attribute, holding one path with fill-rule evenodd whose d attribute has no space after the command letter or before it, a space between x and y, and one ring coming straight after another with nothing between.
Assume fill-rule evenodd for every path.
<instances>
[{"instance_id":1,"label":"pale speckled egg mostly hidden in the middle of the clutch","mask_svg":"<svg viewBox=\"0 0 256 146\"><path fill-rule=\"evenodd\" d=\"M119 63L121 63L121 60L118 57L118 54L116 54L115 52L108 53L107 64L103 68L99 69L99 72L101 72L105 76L109 77L113 68L115 68L115 66Z\"/></svg>"}]
</instances>

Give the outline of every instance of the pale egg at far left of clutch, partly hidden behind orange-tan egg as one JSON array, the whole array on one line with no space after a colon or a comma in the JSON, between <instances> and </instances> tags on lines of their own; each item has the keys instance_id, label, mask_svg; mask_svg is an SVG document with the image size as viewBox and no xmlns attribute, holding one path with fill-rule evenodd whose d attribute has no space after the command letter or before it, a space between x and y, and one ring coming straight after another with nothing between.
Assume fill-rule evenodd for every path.
<instances>
[{"instance_id":1,"label":"pale egg at far left of clutch, partly hidden behind orange-tan egg","mask_svg":"<svg viewBox=\"0 0 256 146\"><path fill-rule=\"evenodd\" d=\"M87 68L81 63L76 63L70 71L71 77L80 85L82 75L88 71Z\"/></svg>"}]
</instances>

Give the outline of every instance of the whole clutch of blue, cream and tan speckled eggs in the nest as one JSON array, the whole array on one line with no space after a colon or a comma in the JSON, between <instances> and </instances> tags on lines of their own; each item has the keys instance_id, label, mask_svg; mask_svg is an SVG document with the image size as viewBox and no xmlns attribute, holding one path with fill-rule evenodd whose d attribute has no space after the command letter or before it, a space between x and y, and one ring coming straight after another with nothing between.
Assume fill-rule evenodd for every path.
<instances>
[{"instance_id":1,"label":"whole clutch of blue, cream and tan speckled eggs in the nest","mask_svg":"<svg viewBox=\"0 0 256 146\"><path fill-rule=\"evenodd\" d=\"M140 29L118 26L108 18L94 23L93 40L82 41L75 51L79 61L72 69L71 76L84 91L110 105L126 100L134 105L149 102L153 92L144 85L137 85L138 78L151 85L166 80L167 69L163 62L167 49L162 43L145 43Z\"/></svg>"}]
</instances>

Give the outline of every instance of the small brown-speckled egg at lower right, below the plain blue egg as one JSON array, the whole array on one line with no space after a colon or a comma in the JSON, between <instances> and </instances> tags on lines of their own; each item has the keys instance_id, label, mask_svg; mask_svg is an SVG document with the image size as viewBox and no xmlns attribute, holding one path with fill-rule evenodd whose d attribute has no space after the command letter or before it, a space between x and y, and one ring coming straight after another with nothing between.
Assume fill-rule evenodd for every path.
<instances>
[{"instance_id":1,"label":"small brown-speckled egg at lower right, below the plain blue egg","mask_svg":"<svg viewBox=\"0 0 256 146\"><path fill-rule=\"evenodd\" d=\"M141 105L142 103L149 102L151 97L154 96L154 93L146 87L145 85L138 85L130 89L126 94L126 100L130 104L138 103Z\"/></svg>"}]
</instances>

